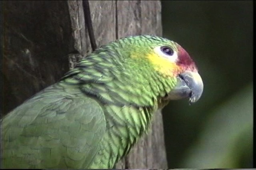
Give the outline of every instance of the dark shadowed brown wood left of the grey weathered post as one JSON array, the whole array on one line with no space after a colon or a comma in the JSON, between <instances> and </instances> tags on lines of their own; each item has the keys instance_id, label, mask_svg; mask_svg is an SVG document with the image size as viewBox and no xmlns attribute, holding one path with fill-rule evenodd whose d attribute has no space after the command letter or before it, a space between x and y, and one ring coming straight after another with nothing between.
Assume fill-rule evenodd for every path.
<instances>
[{"instance_id":1,"label":"dark shadowed brown wood left of the grey weathered post","mask_svg":"<svg viewBox=\"0 0 256 170\"><path fill-rule=\"evenodd\" d=\"M58 81L73 52L65 1L3 1L1 115Z\"/></svg>"}]
</instances>

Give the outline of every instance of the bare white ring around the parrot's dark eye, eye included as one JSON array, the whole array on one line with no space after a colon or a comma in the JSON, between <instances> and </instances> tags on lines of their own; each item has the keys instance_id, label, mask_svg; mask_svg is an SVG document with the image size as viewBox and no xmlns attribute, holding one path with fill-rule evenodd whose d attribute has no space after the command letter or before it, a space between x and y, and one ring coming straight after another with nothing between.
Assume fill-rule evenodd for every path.
<instances>
[{"instance_id":1,"label":"bare white ring around the parrot's dark eye, eye included","mask_svg":"<svg viewBox=\"0 0 256 170\"><path fill-rule=\"evenodd\" d=\"M178 54L175 50L167 45L162 45L154 48L155 53L168 59L169 61L176 62Z\"/></svg>"}]
</instances>

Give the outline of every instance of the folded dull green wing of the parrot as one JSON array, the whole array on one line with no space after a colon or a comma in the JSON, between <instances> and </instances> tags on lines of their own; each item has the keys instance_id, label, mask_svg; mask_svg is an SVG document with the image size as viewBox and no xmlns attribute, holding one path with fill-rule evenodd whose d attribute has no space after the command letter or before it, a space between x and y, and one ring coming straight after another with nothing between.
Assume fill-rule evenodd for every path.
<instances>
[{"instance_id":1,"label":"folded dull green wing of the parrot","mask_svg":"<svg viewBox=\"0 0 256 170\"><path fill-rule=\"evenodd\" d=\"M102 107L87 96L36 96L4 119L3 168L86 168L106 131Z\"/></svg>"}]
</instances>

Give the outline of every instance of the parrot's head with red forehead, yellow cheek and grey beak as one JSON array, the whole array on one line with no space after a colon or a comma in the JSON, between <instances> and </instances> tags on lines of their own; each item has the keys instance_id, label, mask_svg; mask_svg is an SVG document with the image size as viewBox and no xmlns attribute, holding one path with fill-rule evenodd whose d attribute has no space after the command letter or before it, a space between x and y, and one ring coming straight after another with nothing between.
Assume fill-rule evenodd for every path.
<instances>
[{"instance_id":1,"label":"parrot's head with red forehead, yellow cheek and grey beak","mask_svg":"<svg viewBox=\"0 0 256 170\"><path fill-rule=\"evenodd\" d=\"M204 88L202 78L190 55L178 43L152 35L126 37L117 42L127 51L134 67L155 72L160 83L169 84L171 88L167 88L164 99L189 98L190 104L199 100Z\"/></svg>"}]
</instances>

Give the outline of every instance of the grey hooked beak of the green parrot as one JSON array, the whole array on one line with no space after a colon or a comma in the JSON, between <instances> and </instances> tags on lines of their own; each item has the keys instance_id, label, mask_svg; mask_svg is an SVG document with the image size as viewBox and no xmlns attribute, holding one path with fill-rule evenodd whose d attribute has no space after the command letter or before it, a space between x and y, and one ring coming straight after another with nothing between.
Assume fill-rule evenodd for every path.
<instances>
[{"instance_id":1,"label":"grey hooked beak of the green parrot","mask_svg":"<svg viewBox=\"0 0 256 170\"><path fill-rule=\"evenodd\" d=\"M198 72L185 71L177 77L177 84L168 94L169 100L190 98L189 103L197 102L203 92L204 84Z\"/></svg>"}]
</instances>

